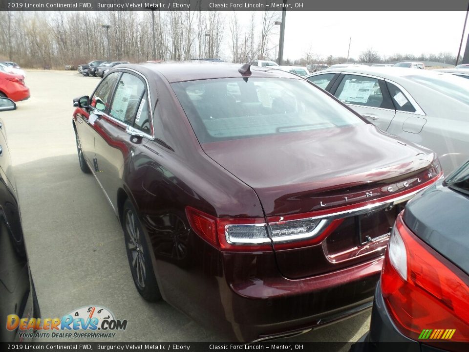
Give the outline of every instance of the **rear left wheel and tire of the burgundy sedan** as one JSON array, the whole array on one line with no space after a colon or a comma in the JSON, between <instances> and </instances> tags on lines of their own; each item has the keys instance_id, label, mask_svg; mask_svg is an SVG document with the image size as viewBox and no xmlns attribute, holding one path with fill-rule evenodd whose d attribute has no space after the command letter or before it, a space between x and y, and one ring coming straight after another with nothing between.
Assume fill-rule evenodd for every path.
<instances>
[{"instance_id":1,"label":"rear left wheel and tire of the burgundy sedan","mask_svg":"<svg viewBox=\"0 0 469 352\"><path fill-rule=\"evenodd\" d=\"M151 264L149 246L145 240L142 224L130 200L124 203L122 228L130 272L138 293L149 302L161 300L161 293L156 282Z\"/></svg>"}]
</instances>

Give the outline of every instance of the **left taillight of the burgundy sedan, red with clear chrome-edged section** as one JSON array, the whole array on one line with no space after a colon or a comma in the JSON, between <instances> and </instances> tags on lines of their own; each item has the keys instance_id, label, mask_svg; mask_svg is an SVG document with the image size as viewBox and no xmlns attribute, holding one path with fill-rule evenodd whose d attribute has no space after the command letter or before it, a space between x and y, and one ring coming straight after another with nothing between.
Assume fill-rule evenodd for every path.
<instances>
[{"instance_id":1,"label":"left taillight of the burgundy sedan, red with clear chrome-edged section","mask_svg":"<svg viewBox=\"0 0 469 352\"><path fill-rule=\"evenodd\" d=\"M272 242L288 246L314 244L313 239L319 243L341 222L299 219L267 224L264 218L215 218L192 207L186 207L186 213L194 232L222 250L271 250Z\"/></svg>"}]
</instances>

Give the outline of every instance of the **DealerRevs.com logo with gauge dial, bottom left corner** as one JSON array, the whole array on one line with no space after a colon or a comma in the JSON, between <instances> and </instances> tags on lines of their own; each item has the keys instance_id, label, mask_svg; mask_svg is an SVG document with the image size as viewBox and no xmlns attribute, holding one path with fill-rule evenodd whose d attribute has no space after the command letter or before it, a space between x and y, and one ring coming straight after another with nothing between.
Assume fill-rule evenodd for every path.
<instances>
[{"instance_id":1,"label":"DealerRevs.com logo with gauge dial, bottom left corner","mask_svg":"<svg viewBox=\"0 0 469 352\"><path fill-rule=\"evenodd\" d=\"M115 319L107 308L87 306L62 318L20 318L10 314L6 317L6 329L19 329L20 338L113 338L116 335L113 331L127 329L127 320Z\"/></svg>"}]
</instances>

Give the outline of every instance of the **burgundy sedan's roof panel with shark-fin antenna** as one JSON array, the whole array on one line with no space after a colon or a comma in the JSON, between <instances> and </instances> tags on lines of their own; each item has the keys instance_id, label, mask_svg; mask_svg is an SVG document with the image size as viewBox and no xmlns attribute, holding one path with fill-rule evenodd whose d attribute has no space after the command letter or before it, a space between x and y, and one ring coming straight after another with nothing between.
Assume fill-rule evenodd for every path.
<instances>
[{"instance_id":1,"label":"burgundy sedan's roof panel with shark-fin antenna","mask_svg":"<svg viewBox=\"0 0 469 352\"><path fill-rule=\"evenodd\" d=\"M171 63L123 64L116 68L131 68L144 74L151 71L163 75L168 82L194 81L213 78L243 77L238 71L242 64L215 63L210 61L190 61ZM251 65L252 74L248 77L295 78L291 73L271 68Z\"/></svg>"}]
</instances>

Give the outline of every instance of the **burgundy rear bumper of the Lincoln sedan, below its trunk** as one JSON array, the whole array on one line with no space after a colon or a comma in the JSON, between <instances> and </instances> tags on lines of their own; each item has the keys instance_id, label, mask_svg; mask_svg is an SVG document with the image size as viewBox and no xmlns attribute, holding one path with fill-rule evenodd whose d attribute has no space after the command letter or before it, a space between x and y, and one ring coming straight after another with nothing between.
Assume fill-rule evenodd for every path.
<instances>
[{"instance_id":1,"label":"burgundy rear bumper of the Lincoln sedan, below its trunk","mask_svg":"<svg viewBox=\"0 0 469 352\"><path fill-rule=\"evenodd\" d=\"M299 280L281 276L228 282L236 338L256 341L296 335L370 308L382 259Z\"/></svg>"}]
</instances>

